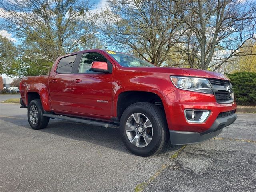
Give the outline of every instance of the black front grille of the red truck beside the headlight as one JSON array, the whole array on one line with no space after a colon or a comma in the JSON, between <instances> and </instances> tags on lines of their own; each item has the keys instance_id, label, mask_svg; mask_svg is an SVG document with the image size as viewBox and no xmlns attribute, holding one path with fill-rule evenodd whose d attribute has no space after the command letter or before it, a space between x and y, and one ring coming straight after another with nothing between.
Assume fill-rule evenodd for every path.
<instances>
[{"instance_id":1,"label":"black front grille of the red truck beside the headlight","mask_svg":"<svg viewBox=\"0 0 256 192\"><path fill-rule=\"evenodd\" d=\"M232 103L234 101L232 86L229 81L220 79L208 80L212 85L212 90L218 103Z\"/></svg>"}]
</instances>

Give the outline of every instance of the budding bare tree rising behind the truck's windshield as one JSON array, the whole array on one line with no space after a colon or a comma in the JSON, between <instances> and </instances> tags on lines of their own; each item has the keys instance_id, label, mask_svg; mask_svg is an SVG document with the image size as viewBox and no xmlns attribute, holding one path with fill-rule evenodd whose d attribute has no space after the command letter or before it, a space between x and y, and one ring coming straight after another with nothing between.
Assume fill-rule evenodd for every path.
<instances>
[{"instance_id":1,"label":"budding bare tree rising behind the truck's windshield","mask_svg":"<svg viewBox=\"0 0 256 192\"><path fill-rule=\"evenodd\" d=\"M133 52L156 66L168 60L170 49L183 34L173 1L114 0L109 6L101 31L110 47Z\"/></svg>"}]
</instances>

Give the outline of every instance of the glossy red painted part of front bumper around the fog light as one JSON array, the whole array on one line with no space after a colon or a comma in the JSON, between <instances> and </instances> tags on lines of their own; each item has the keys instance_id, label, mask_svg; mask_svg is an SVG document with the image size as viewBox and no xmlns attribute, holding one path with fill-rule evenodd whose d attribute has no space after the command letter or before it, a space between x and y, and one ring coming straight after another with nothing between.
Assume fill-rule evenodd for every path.
<instances>
[{"instance_id":1,"label":"glossy red painted part of front bumper around the fog light","mask_svg":"<svg viewBox=\"0 0 256 192\"><path fill-rule=\"evenodd\" d=\"M176 90L164 98L164 111L169 130L202 133L214 124L222 112L236 110L236 103L220 104L212 94ZM188 122L185 110L208 110L208 118L202 122Z\"/></svg>"}]
</instances>

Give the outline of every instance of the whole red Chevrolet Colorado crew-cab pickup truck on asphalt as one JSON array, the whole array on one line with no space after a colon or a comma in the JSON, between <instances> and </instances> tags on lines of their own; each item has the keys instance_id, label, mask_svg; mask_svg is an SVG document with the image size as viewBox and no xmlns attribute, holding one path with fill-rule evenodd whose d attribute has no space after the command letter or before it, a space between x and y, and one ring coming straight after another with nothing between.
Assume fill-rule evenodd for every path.
<instances>
[{"instance_id":1,"label":"whole red Chevrolet Colorado crew-cab pickup truck on asphalt","mask_svg":"<svg viewBox=\"0 0 256 192\"><path fill-rule=\"evenodd\" d=\"M108 50L60 56L49 75L22 78L20 94L33 129L49 118L119 125L125 146L139 156L160 152L169 138L174 145L208 140L237 118L223 74L156 67Z\"/></svg>"}]
</instances>

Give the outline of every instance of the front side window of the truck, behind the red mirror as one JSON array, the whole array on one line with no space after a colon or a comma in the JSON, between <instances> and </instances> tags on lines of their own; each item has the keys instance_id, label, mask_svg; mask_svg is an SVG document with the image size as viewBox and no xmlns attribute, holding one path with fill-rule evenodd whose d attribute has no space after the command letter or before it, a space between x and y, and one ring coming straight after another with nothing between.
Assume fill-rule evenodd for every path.
<instances>
[{"instance_id":1,"label":"front side window of the truck, behind the red mirror","mask_svg":"<svg viewBox=\"0 0 256 192\"><path fill-rule=\"evenodd\" d=\"M92 62L94 61L108 62L108 60L99 53L84 53L79 65L78 73L97 73L91 71Z\"/></svg>"}]
</instances>

